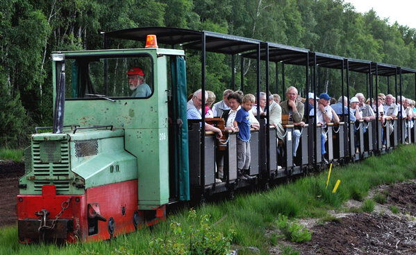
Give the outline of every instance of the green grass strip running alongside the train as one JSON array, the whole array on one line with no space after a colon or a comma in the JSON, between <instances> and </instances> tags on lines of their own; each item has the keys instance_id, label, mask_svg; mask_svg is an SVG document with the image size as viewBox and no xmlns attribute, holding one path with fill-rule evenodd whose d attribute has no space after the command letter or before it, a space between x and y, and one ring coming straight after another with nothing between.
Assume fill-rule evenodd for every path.
<instances>
[{"instance_id":1,"label":"green grass strip running alongside the train","mask_svg":"<svg viewBox=\"0 0 416 255\"><path fill-rule=\"evenodd\" d=\"M328 209L340 209L341 204L351 198L363 200L370 188L414 179L416 156L413 155L416 155L416 146L400 146L388 155L369 157L355 164L333 167L328 188L325 188L328 177L326 170L297 179L290 184L275 186L266 192L243 193L237 195L233 201L203 204L196 209L197 215L210 215L210 224L221 220L213 226L213 231L226 234L229 229L233 229L233 247L257 247L260 254L268 254L269 245L276 243L276 236L265 236L266 229L275 229L274 222L279 213L290 219L324 219ZM337 179L341 180L341 184L338 191L332 193ZM371 205L371 202L367 203ZM119 236L111 242L63 247L19 245L17 227L0 229L0 254L149 254L149 242L156 238L164 238L171 222L181 223L184 231L189 229L187 218L188 209L183 209L169 216L167 221L157 225L152 231L142 229L134 234ZM187 240L186 234L183 239Z\"/></svg>"}]
</instances>

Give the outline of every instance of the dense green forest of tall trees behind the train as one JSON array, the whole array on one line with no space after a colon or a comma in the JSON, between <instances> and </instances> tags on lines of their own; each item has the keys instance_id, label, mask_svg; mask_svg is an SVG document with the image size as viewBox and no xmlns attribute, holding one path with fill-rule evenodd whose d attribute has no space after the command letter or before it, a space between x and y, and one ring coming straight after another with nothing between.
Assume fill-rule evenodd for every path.
<instances>
[{"instance_id":1,"label":"dense green forest of tall trees behind the train","mask_svg":"<svg viewBox=\"0 0 416 255\"><path fill-rule=\"evenodd\" d=\"M403 6L409 8L409 6ZM0 0L0 148L22 148L36 126L52 124L52 51L103 49L101 31L142 26L210 30L322 53L416 69L416 29L356 12L342 0ZM110 42L113 49L138 42ZM236 59L235 84L256 91L255 61ZM231 87L231 56L207 55L206 89L222 98ZM261 86L264 88L262 62ZM276 72L270 65L276 93ZM188 91L201 84L200 56L187 52ZM305 93L305 67L286 67L286 87ZM281 79L281 73L278 74ZM340 71L319 69L319 92L341 94ZM367 77L351 73L350 91L366 91ZM394 80L380 78L380 92L394 94ZM264 90L264 89L263 89ZM282 91L277 91L282 95ZM403 96L414 98L415 77L403 76Z\"/></svg>"}]
</instances>

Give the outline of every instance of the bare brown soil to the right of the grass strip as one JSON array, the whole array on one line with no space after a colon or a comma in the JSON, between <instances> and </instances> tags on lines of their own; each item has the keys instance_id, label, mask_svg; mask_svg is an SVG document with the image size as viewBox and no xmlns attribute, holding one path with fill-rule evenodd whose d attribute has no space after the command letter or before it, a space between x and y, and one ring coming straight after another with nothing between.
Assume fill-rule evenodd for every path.
<instances>
[{"instance_id":1,"label":"bare brown soil to the right of the grass strip","mask_svg":"<svg viewBox=\"0 0 416 255\"><path fill-rule=\"evenodd\" d=\"M335 217L331 222L301 220L313 231L312 239L301 244L281 240L271 247L270 254L281 254L284 246L299 254L416 254L415 182L380 186L369 192L369 197L377 193L388 195L385 204L376 204L372 213L331 211ZM354 211L361 204L350 200L344 206L347 211ZM396 206L399 213L392 213L390 205Z\"/></svg>"}]
</instances>

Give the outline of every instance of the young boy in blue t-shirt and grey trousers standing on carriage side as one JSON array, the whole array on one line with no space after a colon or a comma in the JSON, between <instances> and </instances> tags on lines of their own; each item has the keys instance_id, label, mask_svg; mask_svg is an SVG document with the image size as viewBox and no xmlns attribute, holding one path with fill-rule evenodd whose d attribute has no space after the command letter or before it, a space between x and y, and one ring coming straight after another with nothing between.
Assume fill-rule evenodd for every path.
<instances>
[{"instance_id":1,"label":"young boy in blue t-shirt and grey trousers standing on carriage side","mask_svg":"<svg viewBox=\"0 0 416 255\"><path fill-rule=\"evenodd\" d=\"M234 128L238 128L237 139L237 168L239 179L252 179L244 170L250 167L250 116L249 112L256 98L252 94L247 94L242 98L242 107L238 110L234 119Z\"/></svg>"}]
</instances>

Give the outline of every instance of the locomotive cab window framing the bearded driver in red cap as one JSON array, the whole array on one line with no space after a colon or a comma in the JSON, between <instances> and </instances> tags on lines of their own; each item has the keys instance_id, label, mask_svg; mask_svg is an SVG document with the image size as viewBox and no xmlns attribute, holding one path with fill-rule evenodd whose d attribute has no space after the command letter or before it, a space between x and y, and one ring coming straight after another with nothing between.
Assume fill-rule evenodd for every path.
<instances>
[{"instance_id":1,"label":"locomotive cab window framing the bearded driver in red cap","mask_svg":"<svg viewBox=\"0 0 416 255\"><path fill-rule=\"evenodd\" d=\"M59 71L60 67L57 74ZM147 54L67 57L65 78L67 99L149 98L153 94L153 61ZM57 84L59 79L57 75Z\"/></svg>"}]
</instances>

